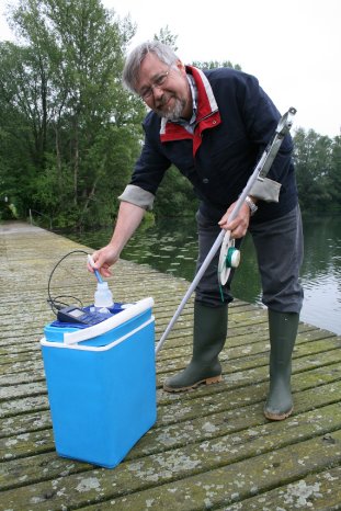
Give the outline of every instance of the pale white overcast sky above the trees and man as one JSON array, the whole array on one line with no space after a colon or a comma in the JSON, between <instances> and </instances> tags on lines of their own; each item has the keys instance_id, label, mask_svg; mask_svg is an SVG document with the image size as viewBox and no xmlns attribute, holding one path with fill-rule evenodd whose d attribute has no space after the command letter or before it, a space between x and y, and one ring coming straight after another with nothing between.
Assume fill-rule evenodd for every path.
<instances>
[{"instance_id":1,"label":"pale white overcast sky above the trees and man","mask_svg":"<svg viewBox=\"0 0 341 511\"><path fill-rule=\"evenodd\" d=\"M239 64L282 113L297 109L295 127L340 135L341 0L102 1L120 16L130 14L133 46L168 25L184 63ZM0 0L1 14L5 3ZM9 36L1 15L0 38Z\"/></svg>"}]
</instances>

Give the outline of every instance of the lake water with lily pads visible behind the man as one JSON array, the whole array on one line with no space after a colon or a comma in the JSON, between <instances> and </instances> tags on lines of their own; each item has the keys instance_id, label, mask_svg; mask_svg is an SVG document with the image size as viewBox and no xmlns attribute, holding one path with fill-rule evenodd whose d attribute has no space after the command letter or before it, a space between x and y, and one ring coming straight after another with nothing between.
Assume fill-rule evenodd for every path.
<instances>
[{"instance_id":1,"label":"lake water with lily pads visible behind the man","mask_svg":"<svg viewBox=\"0 0 341 511\"><path fill-rule=\"evenodd\" d=\"M69 235L93 249L107 243L111 229ZM302 283L305 300L302 320L341 334L341 217L304 217L305 260ZM129 240L122 258L192 281L196 261L196 225L193 219L147 223ZM114 291L114 289L113 289ZM261 286L251 237L241 248L241 263L234 282L237 298L261 304Z\"/></svg>"}]
</instances>

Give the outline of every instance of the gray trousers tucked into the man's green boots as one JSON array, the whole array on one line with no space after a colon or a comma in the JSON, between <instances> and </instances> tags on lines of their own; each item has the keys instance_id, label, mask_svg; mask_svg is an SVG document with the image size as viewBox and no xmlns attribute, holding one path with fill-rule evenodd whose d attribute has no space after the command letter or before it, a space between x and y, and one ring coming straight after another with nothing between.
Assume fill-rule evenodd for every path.
<instances>
[{"instance_id":1,"label":"gray trousers tucked into the man's green boots","mask_svg":"<svg viewBox=\"0 0 341 511\"><path fill-rule=\"evenodd\" d=\"M196 222L198 228L197 271L219 235L220 227L217 223L205 218L200 212L196 214ZM259 225L252 225L251 223L249 231L251 232L258 258L263 304L279 313L299 313L303 305L299 270L304 254L299 206L281 218ZM240 243L241 240L236 240L237 247ZM229 303L234 299L230 284L235 271L231 271L228 282L220 288L218 282L218 260L219 250L207 268L195 292L195 299L211 307L219 307L223 303Z\"/></svg>"}]
</instances>

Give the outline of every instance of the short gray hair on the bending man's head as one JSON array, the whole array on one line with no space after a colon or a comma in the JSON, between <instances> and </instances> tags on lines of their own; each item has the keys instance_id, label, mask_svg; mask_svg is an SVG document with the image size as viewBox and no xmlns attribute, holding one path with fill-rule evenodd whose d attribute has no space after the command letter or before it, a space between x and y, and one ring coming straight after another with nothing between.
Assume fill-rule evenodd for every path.
<instances>
[{"instance_id":1,"label":"short gray hair on the bending man's head","mask_svg":"<svg viewBox=\"0 0 341 511\"><path fill-rule=\"evenodd\" d=\"M137 92L136 87L139 79L140 65L147 54L155 54L161 63L172 66L179 57L170 46L160 41L147 41L137 46L128 55L123 69L123 84L132 92Z\"/></svg>"}]
</instances>

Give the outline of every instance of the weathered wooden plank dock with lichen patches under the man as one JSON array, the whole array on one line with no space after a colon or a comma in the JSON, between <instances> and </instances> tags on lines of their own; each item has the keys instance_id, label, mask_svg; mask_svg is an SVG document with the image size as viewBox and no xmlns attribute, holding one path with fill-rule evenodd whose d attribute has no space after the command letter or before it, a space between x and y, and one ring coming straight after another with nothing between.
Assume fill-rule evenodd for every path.
<instances>
[{"instance_id":1,"label":"weathered wooden plank dock with lichen patches under the man","mask_svg":"<svg viewBox=\"0 0 341 511\"><path fill-rule=\"evenodd\" d=\"M48 276L77 249L86 248L27 224L0 224L1 510L341 509L341 338L300 323L295 412L270 422L266 313L240 300L230 307L223 383L180 395L161 389L191 356L189 304L157 360L156 425L114 469L58 457L39 339L54 319ZM84 261L79 253L58 266L54 295L93 300ZM189 283L120 261L110 286L117 302L154 297L158 340Z\"/></svg>"}]
</instances>

